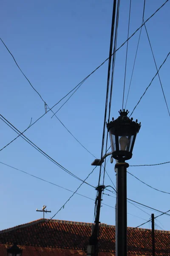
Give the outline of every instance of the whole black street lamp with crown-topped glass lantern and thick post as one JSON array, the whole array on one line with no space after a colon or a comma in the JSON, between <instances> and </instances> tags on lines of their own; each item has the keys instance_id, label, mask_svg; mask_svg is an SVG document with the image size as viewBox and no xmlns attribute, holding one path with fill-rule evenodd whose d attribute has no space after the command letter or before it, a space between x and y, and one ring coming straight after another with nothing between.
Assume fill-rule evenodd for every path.
<instances>
[{"instance_id":1,"label":"whole black street lamp with crown-topped glass lantern and thick post","mask_svg":"<svg viewBox=\"0 0 170 256\"><path fill-rule=\"evenodd\" d=\"M132 157L136 134L141 123L128 118L129 112L119 111L120 116L107 123L111 139L112 156L118 160L116 175L116 256L127 256L127 172L129 167L125 160Z\"/></svg>"}]
</instances>

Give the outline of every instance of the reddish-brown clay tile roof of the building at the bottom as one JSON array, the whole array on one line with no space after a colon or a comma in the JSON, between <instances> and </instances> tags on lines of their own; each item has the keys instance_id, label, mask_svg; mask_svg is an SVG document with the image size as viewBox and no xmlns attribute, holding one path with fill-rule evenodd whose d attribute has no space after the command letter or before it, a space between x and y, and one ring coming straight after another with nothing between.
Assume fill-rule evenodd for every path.
<instances>
[{"instance_id":1,"label":"reddish-brown clay tile roof of the building at the bottom","mask_svg":"<svg viewBox=\"0 0 170 256\"><path fill-rule=\"evenodd\" d=\"M69 256L71 254L85 255L83 251L88 245L91 236L91 223L39 219L27 224L0 231L1 249L14 242L24 246L23 256L54 254ZM99 232L99 251L101 256L115 254L115 226L101 224ZM149 229L127 228L128 254L129 255L152 255L152 236ZM170 255L170 232L155 231L156 255ZM27 254L26 251L27 248ZM32 248L32 249L31 249ZM33 250L28 253L28 251ZM50 254L48 253L51 251ZM43 253L42 253L43 251ZM34 254L33 254L34 252ZM36 252L36 254L35 254ZM60 252L60 253L59 253ZM1 253L0 253L1 255ZM3 255L3 254L2 254Z\"/></svg>"}]
</instances>

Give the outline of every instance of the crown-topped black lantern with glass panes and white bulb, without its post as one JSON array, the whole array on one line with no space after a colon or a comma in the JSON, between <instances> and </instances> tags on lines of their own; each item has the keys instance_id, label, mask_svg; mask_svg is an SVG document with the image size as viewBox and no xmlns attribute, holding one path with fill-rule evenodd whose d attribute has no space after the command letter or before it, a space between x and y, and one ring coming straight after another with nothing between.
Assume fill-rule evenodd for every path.
<instances>
[{"instance_id":1,"label":"crown-topped black lantern with glass panes and white bulb, without its post","mask_svg":"<svg viewBox=\"0 0 170 256\"><path fill-rule=\"evenodd\" d=\"M129 112L119 111L120 116L107 123L108 132L111 139L112 156L117 160L128 160L132 157L133 146L136 134L141 128L141 123L133 121L127 117Z\"/></svg>"}]
</instances>

